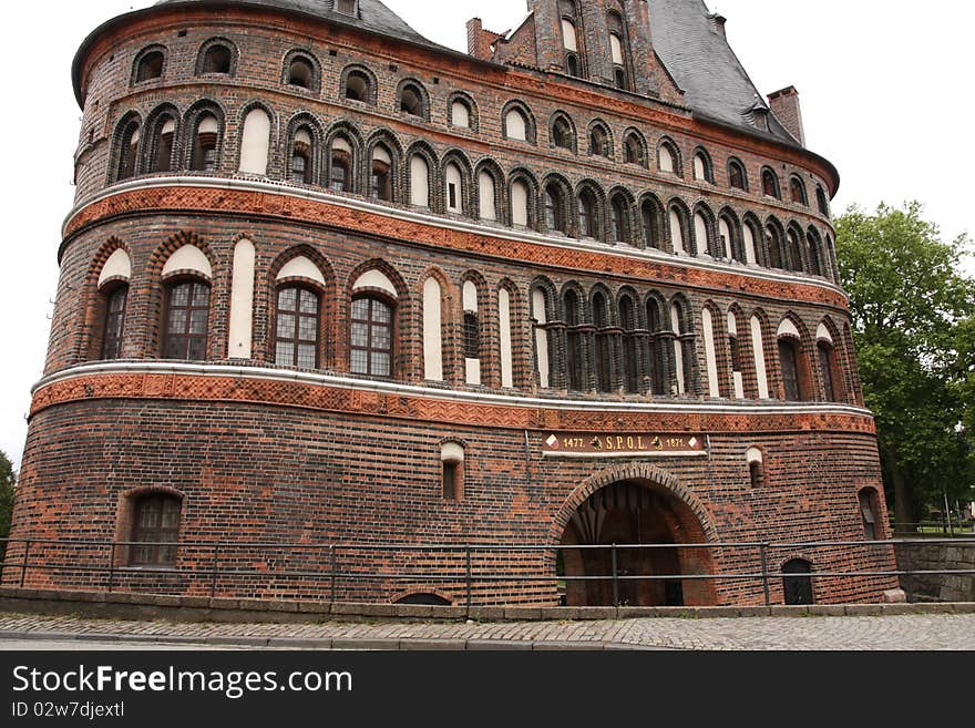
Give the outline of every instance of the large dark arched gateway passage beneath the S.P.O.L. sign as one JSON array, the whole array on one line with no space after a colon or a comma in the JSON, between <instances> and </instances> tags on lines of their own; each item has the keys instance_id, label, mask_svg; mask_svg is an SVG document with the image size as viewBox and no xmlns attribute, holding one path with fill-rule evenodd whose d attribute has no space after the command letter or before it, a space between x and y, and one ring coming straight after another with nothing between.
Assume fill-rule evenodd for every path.
<instances>
[{"instance_id":1,"label":"large dark arched gateway passage beneath the S.P.O.L. sign","mask_svg":"<svg viewBox=\"0 0 975 728\"><path fill-rule=\"evenodd\" d=\"M556 565L568 606L613 606L617 599L623 606L717 603L714 580L682 578L715 573L710 548L678 547L708 543L706 527L696 509L680 498L684 493L659 480L676 481L664 475L610 482L597 486L572 511ZM619 577L615 585L614 551ZM660 578L630 578L636 576Z\"/></svg>"}]
</instances>

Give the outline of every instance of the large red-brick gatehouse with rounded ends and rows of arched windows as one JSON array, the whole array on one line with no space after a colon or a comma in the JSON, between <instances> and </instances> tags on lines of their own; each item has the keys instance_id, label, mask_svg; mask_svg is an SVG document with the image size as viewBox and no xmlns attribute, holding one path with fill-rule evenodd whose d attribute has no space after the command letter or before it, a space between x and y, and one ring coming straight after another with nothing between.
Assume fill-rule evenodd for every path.
<instances>
[{"instance_id":1,"label":"large red-brick gatehouse with rounded ends and rows of arched windows","mask_svg":"<svg viewBox=\"0 0 975 728\"><path fill-rule=\"evenodd\" d=\"M465 567L484 605L760 604L762 562L772 603L895 586L803 576L892 561L809 543L887 526L798 93L700 0L528 6L468 54L378 0L88 38L13 536L93 543L31 544L72 567L28 585L318 597L338 544L350 599L458 602L433 575ZM649 547L558 548L614 543ZM557 578L612 570L667 578Z\"/></svg>"}]
</instances>

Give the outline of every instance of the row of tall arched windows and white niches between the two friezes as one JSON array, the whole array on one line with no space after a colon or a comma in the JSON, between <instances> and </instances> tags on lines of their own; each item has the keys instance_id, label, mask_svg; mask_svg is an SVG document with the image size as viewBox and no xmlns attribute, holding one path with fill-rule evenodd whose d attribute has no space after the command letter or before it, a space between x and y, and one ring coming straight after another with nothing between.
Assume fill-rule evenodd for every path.
<instances>
[{"instance_id":1,"label":"row of tall arched windows and white niches between the two friezes","mask_svg":"<svg viewBox=\"0 0 975 728\"><path fill-rule=\"evenodd\" d=\"M279 367L407 378L410 362L400 355L420 350L422 379L456 384L526 388L525 377L534 370L540 388L579 393L852 401L851 356L829 318L811 336L792 315L772 328L761 311L746 317L737 305L721 309L708 301L697 307L682 294L668 297L630 286L610 290L603 284L587 290L576 283L558 290L540 280L522 298L514 287L489 284L470 271L455 281L430 275L419 285L421 346L414 347L403 340L411 294L391 268L366 269L338 300L331 267L314 250L295 249L261 274L254 269L253 246L244 243L249 258L239 259L235 248L230 286L250 288L243 297L236 290L229 297L253 305L254 281L264 275L268 329L266 344L257 350ZM245 267L238 271L240 266ZM144 332L127 325L126 316L152 307L145 301L132 305L131 277L125 249L116 248L104 258L91 309L98 319L89 347L92 358L137 353L134 349ZM161 336L156 356L189 361L224 358L211 320L216 279L208 255L187 244L166 259L158 289L137 294L160 301L158 325L153 326ZM450 294L453 287L460 296ZM226 297L228 291L218 295ZM337 316L342 306L348 307L347 316ZM453 311L451 306L459 308ZM243 324L248 340L244 358L250 358L254 314L230 310L228 349L237 350L234 329ZM348 327L345 334L337 331L342 320ZM348 358L338 361L337 356Z\"/></svg>"}]
</instances>

